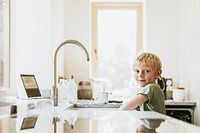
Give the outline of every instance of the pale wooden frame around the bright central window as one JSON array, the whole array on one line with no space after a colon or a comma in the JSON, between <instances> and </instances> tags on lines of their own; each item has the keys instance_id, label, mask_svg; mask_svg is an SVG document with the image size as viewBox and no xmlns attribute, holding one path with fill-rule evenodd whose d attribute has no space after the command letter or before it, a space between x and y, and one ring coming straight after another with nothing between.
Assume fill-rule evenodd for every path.
<instances>
[{"instance_id":1,"label":"pale wooden frame around the bright central window","mask_svg":"<svg viewBox=\"0 0 200 133\"><path fill-rule=\"evenodd\" d=\"M94 2L92 3L92 45L91 45L91 54L92 54L92 65L91 72L92 77L98 76L98 11L103 9L134 9L137 11L137 46L136 53L142 50L142 2Z\"/></svg>"}]
</instances>

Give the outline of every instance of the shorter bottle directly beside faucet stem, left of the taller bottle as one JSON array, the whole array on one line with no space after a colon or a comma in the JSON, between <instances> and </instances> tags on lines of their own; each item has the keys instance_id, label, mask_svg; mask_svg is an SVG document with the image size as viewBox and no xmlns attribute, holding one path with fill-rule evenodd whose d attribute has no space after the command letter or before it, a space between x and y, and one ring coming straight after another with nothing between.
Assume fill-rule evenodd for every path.
<instances>
[{"instance_id":1,"label":"shorter bottle directly beside faucet stem, left of the taller bottle","mask_svg":"<svg viewBox=\"0 0 200 133\"><path fill-rule=\"evenodd\" d=\"M60 82L58 84L58 101L64 102L67 100L66 93L67 93L67 80L66 79L60 79Z\"/></svg>"}]
</instances>

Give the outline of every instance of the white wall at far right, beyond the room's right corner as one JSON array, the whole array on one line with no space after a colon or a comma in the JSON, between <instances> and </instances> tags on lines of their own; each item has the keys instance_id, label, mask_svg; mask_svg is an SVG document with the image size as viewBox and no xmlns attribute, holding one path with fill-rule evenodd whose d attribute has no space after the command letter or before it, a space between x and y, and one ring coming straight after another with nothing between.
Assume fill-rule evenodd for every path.
<instances>
[{"instance_id":1,"label":"white wall at far right, beyond the room's right corner","mask_svg":"<svg viewBox=\"0 0 200 133\"><path fill-rule=\"evenodd\" d=\"M197 102L195 123L200 125L200 1L179 3L179 84L188 90L189 99Z\"/></svg>"}]
</instances>

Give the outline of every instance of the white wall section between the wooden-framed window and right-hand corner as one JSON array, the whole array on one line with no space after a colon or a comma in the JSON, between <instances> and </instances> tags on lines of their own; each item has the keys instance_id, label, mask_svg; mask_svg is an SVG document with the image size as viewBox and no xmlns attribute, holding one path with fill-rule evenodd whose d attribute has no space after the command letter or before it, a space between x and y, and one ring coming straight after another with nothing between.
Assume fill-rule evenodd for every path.
<instances>
[{"instance_id":1,"label":"white wall section between the wooden-framed window and right-hand corner","mask_svg":"<svg viewBox=\"0 0 200 133\"><path fill-rule=\"evenodd\" d=\"M178 84L178 2L177 0L146 1L146 50L162 61L163 76Z\"/></svg>"}]
</instances>

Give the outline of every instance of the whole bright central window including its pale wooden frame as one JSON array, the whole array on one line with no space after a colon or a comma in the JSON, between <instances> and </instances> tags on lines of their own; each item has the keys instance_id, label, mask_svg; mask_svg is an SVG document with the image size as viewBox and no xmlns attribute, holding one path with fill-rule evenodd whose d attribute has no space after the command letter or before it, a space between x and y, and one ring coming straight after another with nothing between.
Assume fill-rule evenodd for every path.
<instances>
[{"instance_id":1,"label":"whole bright central window including its pale wooden frame","mask_svg":"<svg viewBox=\"0 0 200 133\"><path fill-rule=\"evenodd\" d=\"M92 77L112 89L132 81L132 62L142 49L142 3L92 3Z\"/></svg>"}]
</instances>

